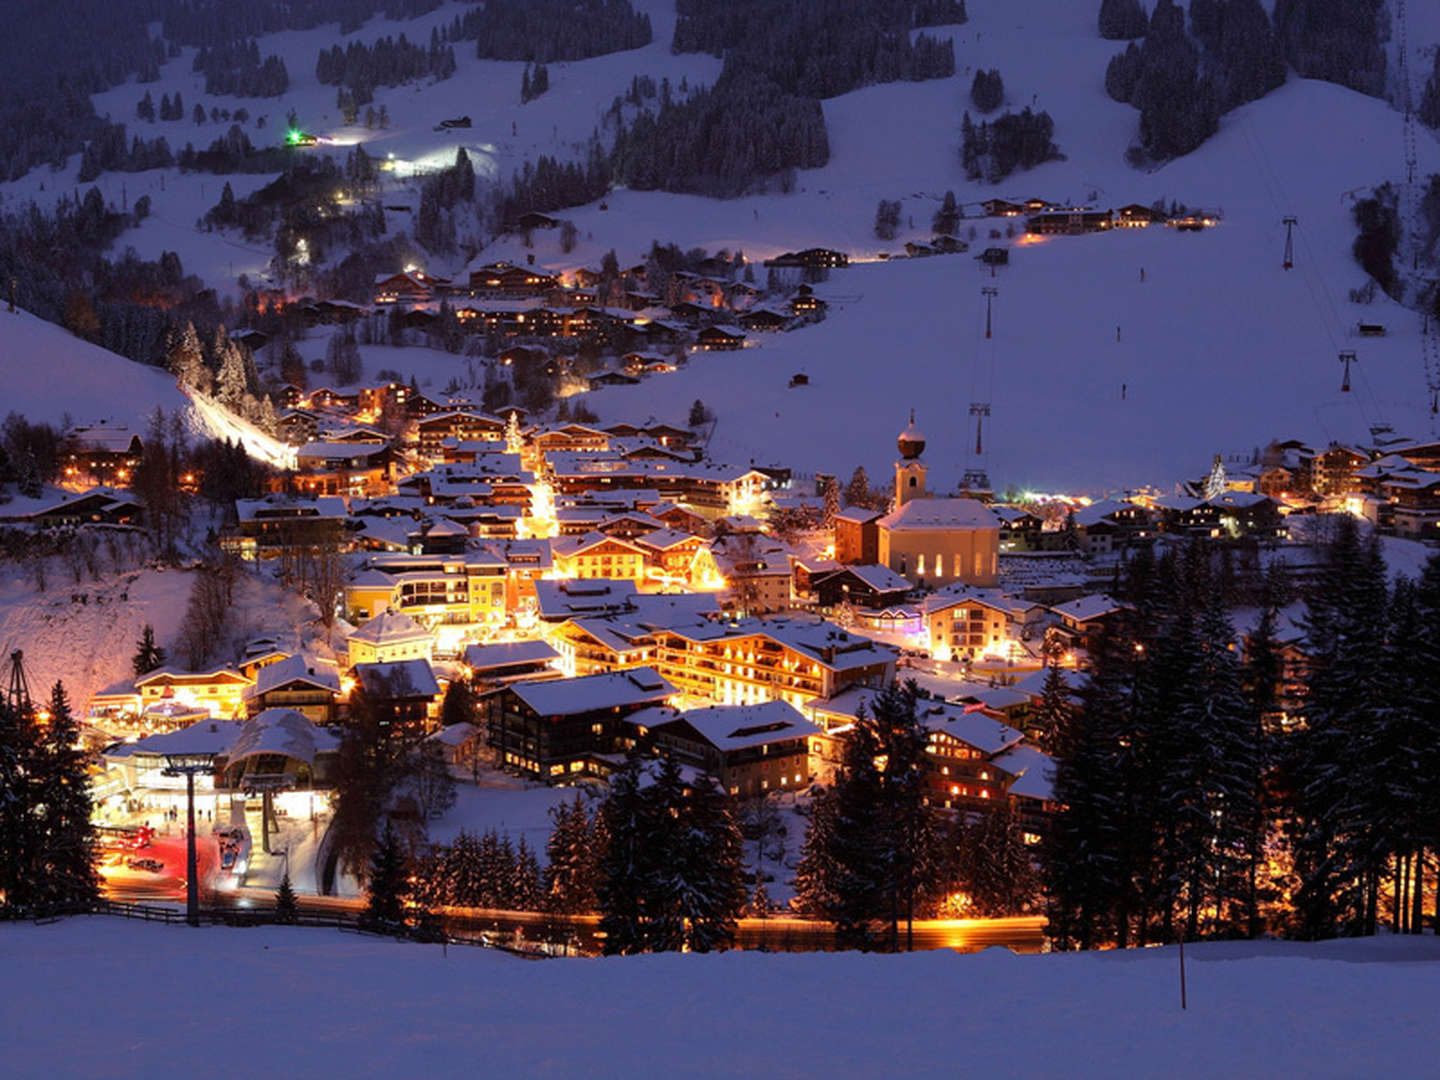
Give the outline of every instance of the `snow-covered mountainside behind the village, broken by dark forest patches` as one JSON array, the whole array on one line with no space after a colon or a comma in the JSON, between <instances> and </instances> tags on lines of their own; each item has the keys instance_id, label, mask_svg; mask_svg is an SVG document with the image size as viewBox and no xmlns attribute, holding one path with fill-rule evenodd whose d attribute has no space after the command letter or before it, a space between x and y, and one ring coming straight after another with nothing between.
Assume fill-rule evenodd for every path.
<instances>
[{"instance_id":1,"label":"snow-covered mountainside behind the village, broken by dark forest patches","mask_svg":"<svg viewBox=\"0 0 1440 1080\"><path fill-rule=\"evenodd\" d=\"M377 91L393 124L387 131L334 127L334 88L314 81L314 58L337 39L331 29L274 35L261 52L287 59L292 88L278 101L206 98L189 53L161 69L160 94L183 89L196 101L235 108L271 121L252 138L276 137L294 107L302 124L340 141L372 140L377 154L406 163L454 158L455 132L435 132L445 117L469 114L464 132L482 171L508 176L540 153L577 153L599 112L635 73L704 82L717 72L706 56L668 49L672 0L641 0L655 40L645 49L552 66L552 89L521 105L523 65L477 60L456 45L459 71L442 84ZM564 212L579 226L579 246L564 255L557 238L537 233L526 249L501 238L480 259L533 255L552 268L595 265L615 248L622 262L639 258L651 240L681 246L743 249L752 259L811 245L842 248L864 265L838 271L819 291L832 301L827 324L760 340L739 354L697 356L677 374L638 387L592 395L606 418L665 419L685 415L696 397L720 418L711 451L733 459L779 459L802 471L844 472L864 464L883 477L893 433L917 408L930 435L933 482L948 487L973 456L971 402L992 409L984 462L996 485L1102 490L1145 482L1171 484L1204 472L1214 454L1248 454L1270 438L1365 436L1375 423L1426 436L1430 395L1418 346L1418 318L1380 298L1352 305L1364 282L1349 255L1351 202L1356 190L1401 174L1401 118L1382 101L1339 86L1292 78L1267 98L1227 115L1221 131L1195 153L1153 171L1125 163L1138 127L1135 109L1104 95L1107 59L1120 45L1102 40L1090 0L971 0L971 22L939 33L955 42L952 79L871 86L825 102L832 156L824 168L801 173L792 194L757 194L717 202L655 192L613 192L602 204ZM1416 7L1414 4L1411 7ZM373 22L351 37L374 40L405 30L425 40L448 19L442 7L409 23ZM1410 45L1417 68L1440 36L1440 16L1413 13ZM998 68L1007 107L1034 104L1056 121L1066 160L1012 176L998 186L963 179L959 122L976 68ZM96 99L128 118L143 88L117 88ZM134 127L134 125L132 125ZM138 125L164 130L174 147L197 145L225 124ZM514 132L514 134L513 134ZM343 153L343 148L337 153ZM0 194L7 200L71 189L69 173L36 173ZM1440 171L1440 144L1421 131L1421 174ZM261 183L232 177L238 194ZM222 288L242 269L264 269L266 252L235 235L197 233L193 219L217 196L213 176L107 174L107 197L151 190L156 215L122 238L144 255L179 249L186 266ZM403 183L403 181L399 181ZM202 189L203 187L203 193ZM962 203L991 196L1040 196L1054 202L1120 206L1179 199L1223 212L1223 223L1200 235L1165 229L1090 238L1053 238L1017 245L1011 266L991 281L969 256L868 262L896 253L906 239L929 239L930 217L946 190ZM873 235L876 203L903 202L903 232L881 243ZM1280 269L1284 229L1300 220L1297 261ZM390 216L392 229L409 226ZM976 249L989 242L994 220L976 226ZM999 239L1011 243L1004 236ZM972 252L973 253L973 252ZM432 271L458 272L454 261ZM1140 282L1140 269L1145 281ZM763 282L763 274L760 275ZM982 336L982 285L999 289L995 337ZM1358 340L1359 321L1381 323L1384 338ZM1120 340L1116 341L1119 327ZM1355 350L1354 392L1339 392L1338 353ZM384 348L367 367L387 364ZM436 357L433 379L465 361ZM811 376L808 389L786 390L791 374ZM464 377L464 374L462 374ZM75 412L72 409L72 412Z\"/></svg>"}]
</instances>

